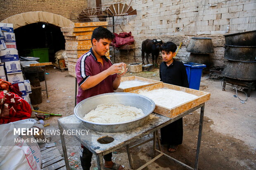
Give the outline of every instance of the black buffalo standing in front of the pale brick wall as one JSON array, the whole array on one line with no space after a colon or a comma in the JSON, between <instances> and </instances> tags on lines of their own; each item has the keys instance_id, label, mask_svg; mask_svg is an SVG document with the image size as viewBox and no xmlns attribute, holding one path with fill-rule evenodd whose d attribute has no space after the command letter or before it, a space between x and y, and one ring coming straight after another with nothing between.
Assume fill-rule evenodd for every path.
<instances>
[{"instance_id":1,"label":"black buffalo standing in front of the pale brick wall","mask_svg":"<svg viewBox=\"0 0 256 170\"><path fill-rule=\"evenodd\" d=\"M154 66L157 66L157 59L159 56L161 44L163 44L162 40L156 40L156 39L153 39L153 40L147 39L142 42L141 56L142 56L143 65L145 65L145 63L144 63L145 53L146 53L147 64L149 64L149 54L151 53L152 63Z\"/></svg>"}]
</instances>

